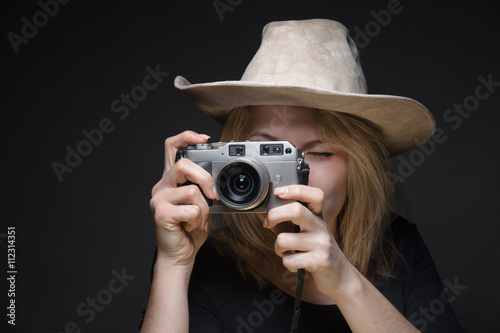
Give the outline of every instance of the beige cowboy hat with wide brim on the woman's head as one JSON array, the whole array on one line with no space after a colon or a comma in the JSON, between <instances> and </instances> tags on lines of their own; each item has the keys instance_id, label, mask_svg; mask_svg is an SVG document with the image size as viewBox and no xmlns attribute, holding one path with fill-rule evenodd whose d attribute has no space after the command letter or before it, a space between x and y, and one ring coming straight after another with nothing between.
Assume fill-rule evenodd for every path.
<instances>
[{"instance_id":1,"label":"beige cowboy hat with wide brim on the woman's head","mask_svg":"<svg viewBox=\"0 0 500 333\"><path fill-rule=\"evenodd\" d=\"M393 156L420 145L435 130L432 115L417 101L367 93L357 47L347 29L332 20L267 24L239 81L191 84L177 76L174 84L221 124L232 109L247 105L353 114L382 130Z\"/></svg>"}]
</instances>

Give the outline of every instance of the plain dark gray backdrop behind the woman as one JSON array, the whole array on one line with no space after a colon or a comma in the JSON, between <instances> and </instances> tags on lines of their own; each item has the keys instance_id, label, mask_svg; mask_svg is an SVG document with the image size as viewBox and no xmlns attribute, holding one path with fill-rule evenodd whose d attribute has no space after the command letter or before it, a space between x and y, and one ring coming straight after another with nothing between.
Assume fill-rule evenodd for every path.
<instances>
[{"instance_id":1,"label":"plain dark gray backdrop behind the woman","mask_svg":"<svg viewBox=\"0 0 500 333\"><path fill-rule=\"evenodd\" d=\"M15 226L15 329L63 332L70 321L82 332L137 329L154 250L149 198L161 177L164 139L184 129L214 137L220 131L173 87L176 75L191 82L239 79L265 23L331 18L354 37L356 27L364 31L374 21L371 11L388 3L244 0L221 21L211 0L71 1L15 54L7 34L20 34L21 18L32 22L40 6L3 2L0 257L7 257L7 226ZM452 304L467 332L500 331L500 92L456 129L443 114L474 95L479 76L500 81L492 3L401 0L401 12L372 33L361 52L371 93L422 102L447 135L404 186L410 218L442 279L467 285ZM142 83L146 66L157 64L169 76L120 120L111 103ZM59 182L51 163L64 163L65 146L75 148L85 139L82 130L104 118L114 131ZM393 161L396 168L400 163ZM6 262L0 267L5 274ZM77 306L106 289L111 271L122 268L135 278L86 323ZM3 327L8 298L2 281Z\"/></svg>"}]
</instances>

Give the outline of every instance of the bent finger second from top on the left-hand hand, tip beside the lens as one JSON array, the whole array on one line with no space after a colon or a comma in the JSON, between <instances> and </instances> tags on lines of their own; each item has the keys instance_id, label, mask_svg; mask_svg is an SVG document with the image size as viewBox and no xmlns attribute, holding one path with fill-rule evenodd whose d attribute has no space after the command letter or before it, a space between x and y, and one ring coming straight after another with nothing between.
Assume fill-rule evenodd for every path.
<instances>
[{"instance_id":1,"label":"bent finger second from top on the left-hand hand, tip beside the lens","mask_svg":"<svg viewBox=\"0 0 500 333\"><path fill-rule=\"evenodd\" d=\"M203 193L210 199L219 199L215 182L210 173L186 158L180 159L163 177L163 181L168 187L178 187L188 181L198 184Z\"/></svg>"}]
</instances>

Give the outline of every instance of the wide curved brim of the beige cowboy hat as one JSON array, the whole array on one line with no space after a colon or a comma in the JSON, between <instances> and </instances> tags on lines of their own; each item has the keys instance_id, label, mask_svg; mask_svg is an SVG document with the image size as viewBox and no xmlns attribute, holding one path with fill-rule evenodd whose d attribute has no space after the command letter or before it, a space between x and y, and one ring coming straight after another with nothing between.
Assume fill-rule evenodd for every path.
<instances>
[{"instance_id":1,"label":"wide curved brim of the beige cowboy hat","mask_svg":"<svg viewBox=\"0 0 500 333\"><path fill-rule=\"evenodd\" d=\"M422 144L436 129L427 108L407 97L340 93L251 81L191 84L182 76L175 78L174 85L221 124L229 111L248 105L293 105L356 115L381 129L392 156Z\"/></svg>"}]
</instances>

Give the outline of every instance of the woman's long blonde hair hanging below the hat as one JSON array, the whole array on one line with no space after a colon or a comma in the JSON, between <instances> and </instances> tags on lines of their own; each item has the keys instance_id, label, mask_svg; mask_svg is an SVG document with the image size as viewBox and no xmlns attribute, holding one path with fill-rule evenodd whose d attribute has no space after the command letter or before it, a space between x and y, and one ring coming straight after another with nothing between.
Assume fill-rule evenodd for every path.
<instances>
[{"instance_id":1,"label":"woman's long blonde hair hanging below the hat","mask_svg":"<svg viewBox=\"0 0 500 333\"><path fill-rule=\"evenodd\" d=\"M392 184L382 134L375 125L346 113L315 110L315 116L319 139L334 143L348 158L347 197L337 216L336 241L365 277L387 280L398 252L391 237ZM249 120L246 107L232 110L220 140L246 140ZM265 286L264 272L281 260L274 252L274 232L263 228L256 214L224 215L221 223L217 238L234 252L241 274Z\"/></svg>"}]
</instances>

